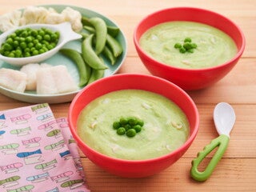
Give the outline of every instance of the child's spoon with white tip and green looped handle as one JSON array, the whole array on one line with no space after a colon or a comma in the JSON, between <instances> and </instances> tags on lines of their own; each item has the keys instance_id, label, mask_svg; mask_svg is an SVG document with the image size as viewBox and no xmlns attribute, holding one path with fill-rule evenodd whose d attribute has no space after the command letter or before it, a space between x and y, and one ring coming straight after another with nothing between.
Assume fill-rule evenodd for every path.
<instances>
[{"instance_id":1,"label":"child's spoon with white tip and green looped handle","mask_svg":"<svg viewBox=\"0 0 256 192\"><path fill-rule=\"evenodd\" d=\"M192 168L190 175L198 182L206 181L212 174L218 161L222 158L226 147L230 141L230 131L232 130L235 122L234 109L226 102L220 102L214 108L214 124L218 131L218 138L214 138L209 145L205 146L202 151L198 153L198 157L192 161ZM213 158L210 160L208 166L203 171L198 170L199 164L212 150L218 147Z\"/></svg>"}]
</instances>

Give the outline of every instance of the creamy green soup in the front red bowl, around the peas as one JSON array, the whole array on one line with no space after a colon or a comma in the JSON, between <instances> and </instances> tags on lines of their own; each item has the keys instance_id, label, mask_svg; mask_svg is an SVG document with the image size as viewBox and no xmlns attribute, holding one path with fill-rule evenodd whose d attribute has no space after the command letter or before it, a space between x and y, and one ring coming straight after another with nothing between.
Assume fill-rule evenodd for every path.
<instances>
[{"instance_id":1,"label":"creamy green soup in the front red bowl, around the peas","mask_svg":"<svg viewBox=\"0 0 256 192\"><path fill-rule=\"evenodd\" d=\"M144 122L134 137L117 134L113 122L136 117ZM157 158L182 146L189 135L186 114L160 94L118 90L90 102L78 117L78 135L86 144L114 158Z\"/></svg>"}]
</instances>

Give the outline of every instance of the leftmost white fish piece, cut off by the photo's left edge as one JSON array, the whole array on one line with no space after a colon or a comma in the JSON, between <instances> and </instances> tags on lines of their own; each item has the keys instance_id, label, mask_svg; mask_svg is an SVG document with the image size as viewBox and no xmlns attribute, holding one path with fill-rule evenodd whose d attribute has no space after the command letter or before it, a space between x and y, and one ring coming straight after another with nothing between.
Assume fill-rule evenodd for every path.
<instances>
[{"instance_id":1,"label":"leftmost white fish piece, cut off by the photo's left edge","mask_svg":"<svg viewBox=\"0 0 256 192\"><path fill-rule=\"evenodd\" d=\"M26 90L26 74L19 70L0 69L0 86L18 92Z\"/></svg>"}]
</instances>

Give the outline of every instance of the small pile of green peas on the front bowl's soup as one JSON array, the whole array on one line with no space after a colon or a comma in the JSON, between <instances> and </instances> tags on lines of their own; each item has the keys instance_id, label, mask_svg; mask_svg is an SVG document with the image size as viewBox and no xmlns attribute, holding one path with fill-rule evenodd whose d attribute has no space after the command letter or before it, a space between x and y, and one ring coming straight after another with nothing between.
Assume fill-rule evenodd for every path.
<instances>
[{"instance_id":1,"label":"small pile of green peas on the front bowl's soup","mask_svg":"<svg viewBox=\"0 0 256 192\"><path fill-rule=\"evenodd\" d=\"M141 119L129 117L120 118L119 121L114 122L113 128L117 131L117 134L126 134L127 137L132 138L142 130L143 125L144 122Z\"/></svg>"}]
</instances>

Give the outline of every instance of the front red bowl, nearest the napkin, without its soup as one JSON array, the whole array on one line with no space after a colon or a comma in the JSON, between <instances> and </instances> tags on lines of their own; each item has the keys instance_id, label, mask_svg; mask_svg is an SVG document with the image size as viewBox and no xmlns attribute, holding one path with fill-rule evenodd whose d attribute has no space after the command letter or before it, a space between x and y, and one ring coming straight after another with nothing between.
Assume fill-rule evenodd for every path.
<instances>
[{"instance_id":1,"label":"front red bowl, nearest the napkin, without its soup","mask_svg":"<svg viewBox=\"0 0 256 192\"><path fill-rule=\"evenodd\" d=\"M111 158L98 153L98 151L87 146L85 142L82 142L82 139L79 138L77 134L77 121L81 110L88 103L103 94L115 90L126 89L148 90L157 94L162 94L175 102L183 110L190 122L190 136L187 141L170 154L147 160L122 160L119 158ZM116 74L99 79L81 90L71 102L68 121L70 123L70 130L78 143L79 148L91 162L94 162L103 170L118 176L126 178L142 178L157 174L182 157L198 133L199 116L197 107L190 96L172 82L152 75Z\"/></svg>"}]
</instances>

